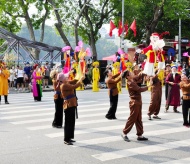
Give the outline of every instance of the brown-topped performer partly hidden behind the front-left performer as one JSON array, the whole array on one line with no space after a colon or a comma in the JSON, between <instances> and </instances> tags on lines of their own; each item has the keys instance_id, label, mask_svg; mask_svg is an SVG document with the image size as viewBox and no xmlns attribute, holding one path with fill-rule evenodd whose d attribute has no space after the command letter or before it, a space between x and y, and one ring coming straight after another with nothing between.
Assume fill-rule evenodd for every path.
<instances>
[{"instance_id":1,"label":"brown-topped performer partly hidden behind the front-left performer","mask_svg":"<svg viewBox=\"0 0 190 164\"><path fill-rule=\"evenodd\" d=\"M50 77L52 78L53 82L55 102L55 115L52 126L56 128L61 128L63 124L63 97L61 95L60 89L62 81L60 80L60 76L55 69L50 72Z\"/></svg>"}]
</instances>

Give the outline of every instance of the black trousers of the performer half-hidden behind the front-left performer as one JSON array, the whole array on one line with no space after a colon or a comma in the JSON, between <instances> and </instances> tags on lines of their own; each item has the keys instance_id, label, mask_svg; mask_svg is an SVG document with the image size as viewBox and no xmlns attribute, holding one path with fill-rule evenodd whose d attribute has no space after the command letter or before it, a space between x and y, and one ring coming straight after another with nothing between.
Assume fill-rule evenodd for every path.
<instances>
[{"instance_id":1,"label":"black trousers of the performer half-hidden behind the front-left performer","mask_svg":"<svg viewBox=\"0 0 190 164\"><path fill-rule=\"evenodd\" d=\"M62 126L63 124L63 98L60 94L57 99L54 99L55 102L55 115L52 125L53 126Z\"/></svg>"}]
</instances>

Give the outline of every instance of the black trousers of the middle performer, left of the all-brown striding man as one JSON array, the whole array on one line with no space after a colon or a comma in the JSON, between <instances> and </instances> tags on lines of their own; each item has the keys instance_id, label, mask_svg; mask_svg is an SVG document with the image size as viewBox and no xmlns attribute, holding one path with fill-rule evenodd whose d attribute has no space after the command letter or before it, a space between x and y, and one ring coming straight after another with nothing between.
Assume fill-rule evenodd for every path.
<instances>
[{"instance_id":1,"label":"black trousers of the middle performer, left of the all-brown striding man","mask_svg":"<svg viewBox=\"0 0 190 164\"><path fill-rule=\"evenodd\" d=\"M118 103L118 94L115 96L112 96L110 94L110 108L108 113L106 114L106 118L115 118L117 103Z\"/></svg>"}]
</instances>

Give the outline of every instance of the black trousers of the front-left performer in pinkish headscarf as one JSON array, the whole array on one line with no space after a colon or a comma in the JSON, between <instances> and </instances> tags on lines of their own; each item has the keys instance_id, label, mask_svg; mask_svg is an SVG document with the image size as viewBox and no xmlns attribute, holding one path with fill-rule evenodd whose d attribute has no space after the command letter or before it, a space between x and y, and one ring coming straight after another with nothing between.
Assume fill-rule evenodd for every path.
<instances>
[{"instance_id":1,"label":"black trousers of the front-left performer in pinkish headscarf","mask_svg":"<svg viewBox=\"0 0 190 164\"><path fill-rule=\"evenodd\" d=\"M65 126L64 126L64 141L70 141L74 138L75 130L75 110L76 107L70 107L64 110Z\"/></svg>"}]
</instances>

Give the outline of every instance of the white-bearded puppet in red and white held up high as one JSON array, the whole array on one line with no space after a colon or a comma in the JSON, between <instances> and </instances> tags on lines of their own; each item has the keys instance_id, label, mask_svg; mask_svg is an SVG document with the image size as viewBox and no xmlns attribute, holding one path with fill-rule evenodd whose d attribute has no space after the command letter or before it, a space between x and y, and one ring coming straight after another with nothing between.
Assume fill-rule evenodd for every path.
<instances>
[{"instance_id":1,"label":"white-bearded puppet in red and white held up high","mask_svg":"<svg viewBox=\"0 0 190 164\"><path fill-rule=\"evenodd\" d=\"M158 69L165 68L165 59L163 55L165 42L160 38L158 33L152 33L150 41L150 45L142 50L142 53L147 56L143 72L148 76L154 76L154 63L156 63L157 60Z\"/></svg>"}]
</instances>

